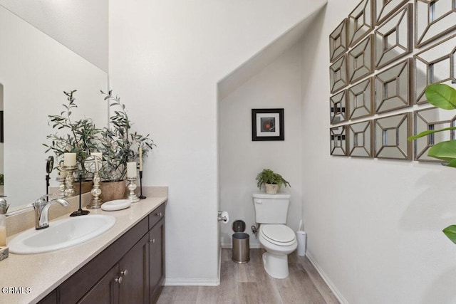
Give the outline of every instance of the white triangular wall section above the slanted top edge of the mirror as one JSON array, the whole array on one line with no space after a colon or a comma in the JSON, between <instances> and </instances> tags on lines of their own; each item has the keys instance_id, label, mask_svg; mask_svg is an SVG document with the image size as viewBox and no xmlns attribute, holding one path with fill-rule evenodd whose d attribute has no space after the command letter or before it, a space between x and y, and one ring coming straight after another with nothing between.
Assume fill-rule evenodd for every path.
<instances>
[{"instance_id":1,"label":"white triangular wall section above the slanted top edge of the mirror","mask_svg":"<svg viewBox=\"0 0 456 304\"><path fill-rule=\"evenodd\" d=\"M108 71L108 0L0 0L0 5Z\"/></svg>"}]
</instances>

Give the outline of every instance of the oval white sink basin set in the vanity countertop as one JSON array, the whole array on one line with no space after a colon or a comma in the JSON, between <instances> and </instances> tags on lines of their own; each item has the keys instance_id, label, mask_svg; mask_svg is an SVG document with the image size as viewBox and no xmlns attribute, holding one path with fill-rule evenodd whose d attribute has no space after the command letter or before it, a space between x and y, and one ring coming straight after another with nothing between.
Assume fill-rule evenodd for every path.
<instances>
[{"instance_id":1,"label":"oval white sink basin set in the vanity countertop","mask_svg":"<svg viewBox=\"0 0 456 304\"><path fill-rule=\"evenodd\" d=\"M9 252L30 254L67 248L105 233L114 224L114 216L102 214L51 221L46 229L28 229L9 241Z\"/></svg>"}]
</instances>

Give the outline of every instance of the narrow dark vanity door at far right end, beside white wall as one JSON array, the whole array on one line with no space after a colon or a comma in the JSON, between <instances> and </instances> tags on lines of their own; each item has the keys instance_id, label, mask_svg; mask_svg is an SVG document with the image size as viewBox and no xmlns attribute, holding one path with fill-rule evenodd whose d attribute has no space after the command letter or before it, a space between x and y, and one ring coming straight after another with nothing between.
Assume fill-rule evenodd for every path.
<instances>
[{"instance_id":1,"label":"narrow dark vanity door at far right end, beside white wall","mask_svg":"<svg viewBox=\"0 0 456 304\"><path fill-rule=\"evenodd\" d=\"M160 295L165 279L165 219L161 219L149 231L150 245L150 303Z\"/></svg>"}]
</instances>

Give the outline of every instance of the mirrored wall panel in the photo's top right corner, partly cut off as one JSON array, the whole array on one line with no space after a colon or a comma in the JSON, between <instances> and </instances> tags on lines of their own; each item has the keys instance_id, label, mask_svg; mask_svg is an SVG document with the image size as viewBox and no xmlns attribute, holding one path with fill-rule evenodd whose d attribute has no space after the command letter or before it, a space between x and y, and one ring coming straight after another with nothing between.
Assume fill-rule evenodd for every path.
<instances>
[{"instance_id":1,"label":"mirrored wall panel in the photo's top right corner, partly cut off","mask_svg":"<svg viewBox=\"0 0 456 304\"><path fill-rule=\"evenodd\" d=\"M456 28L455 0L415 0L415 47Z\"/></svg>"}]
</instances>

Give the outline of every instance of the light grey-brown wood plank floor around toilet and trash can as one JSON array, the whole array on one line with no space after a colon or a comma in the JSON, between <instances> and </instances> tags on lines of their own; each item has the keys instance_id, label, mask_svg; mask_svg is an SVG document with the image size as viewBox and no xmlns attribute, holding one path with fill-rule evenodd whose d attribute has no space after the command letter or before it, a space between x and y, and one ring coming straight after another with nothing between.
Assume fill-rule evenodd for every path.
<instances>
[{"instance_id":1,"label":"light grey-brown wood plank floor around toilet and trash can","mask_svg":"<svg viewBox=\"0 0 456 304\"><path fill-rule=\"evenodd\" d=\"M222 249L220 285L165 286L157 303L339 303L308 258L289 255L289 277L276 279L263 268L264 249L251 249L249 263L231 260L231 249Z\"/></svg>"}]
</instances>

